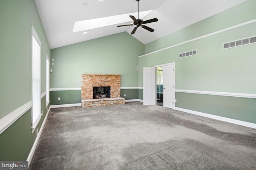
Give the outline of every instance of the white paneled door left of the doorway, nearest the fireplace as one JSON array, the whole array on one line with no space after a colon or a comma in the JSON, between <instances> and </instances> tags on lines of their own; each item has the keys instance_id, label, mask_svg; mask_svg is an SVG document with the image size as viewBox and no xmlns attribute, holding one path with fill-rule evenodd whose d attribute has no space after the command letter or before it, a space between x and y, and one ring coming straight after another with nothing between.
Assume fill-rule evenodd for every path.
<instances>
[{"instance_id":1,"label":"white paneled door left of the doorway, nearest the fireplace","mask_svg":"<svg viewBox=\"0 0 256 170\"><path fill-rule=\"evenodd\" d=\"M155 105L156 104L156 68L144 67L143 68L143 104Z\"/></svg>"}]
</instances>

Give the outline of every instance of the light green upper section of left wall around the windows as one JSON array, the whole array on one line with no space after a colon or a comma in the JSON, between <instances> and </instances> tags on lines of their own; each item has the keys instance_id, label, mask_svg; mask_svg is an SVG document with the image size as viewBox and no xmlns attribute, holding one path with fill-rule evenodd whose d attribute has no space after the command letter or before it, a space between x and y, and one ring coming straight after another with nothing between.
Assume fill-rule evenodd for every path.
<instances>
[{"instance_id":1,"label":"light green upper section of left wall around the windows","mask_svg":"<svg viewBox=\"0 0 256 170\"><path fill-rule=\"evenodd\" d=\"M35 1L0 1L0 119L31 100L31 25L42 43L41 92L45 92L50 47Z\"/></svg>"}]
</instances>

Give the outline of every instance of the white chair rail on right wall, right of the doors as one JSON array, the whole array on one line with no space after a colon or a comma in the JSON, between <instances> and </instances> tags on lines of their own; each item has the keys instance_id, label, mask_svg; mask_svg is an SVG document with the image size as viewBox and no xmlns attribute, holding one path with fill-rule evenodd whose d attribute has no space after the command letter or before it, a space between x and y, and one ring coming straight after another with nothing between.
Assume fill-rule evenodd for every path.
<instances>
[{"instance_id":1,"label":"white chair rail on right wall, right of the doors","mask_svg":"<svg viewBox=\"0 0 256 170\"><path fill-rule=\"evenodd\" d=\"M217 96L231 96L231 97L239 97L239 98L256 98L256 94L248 94L248 93L210 92L210 91L178 90L178 89L175 89L175 92L207 94L207 95L217 95Z\"/></svg>"}]
</instances>

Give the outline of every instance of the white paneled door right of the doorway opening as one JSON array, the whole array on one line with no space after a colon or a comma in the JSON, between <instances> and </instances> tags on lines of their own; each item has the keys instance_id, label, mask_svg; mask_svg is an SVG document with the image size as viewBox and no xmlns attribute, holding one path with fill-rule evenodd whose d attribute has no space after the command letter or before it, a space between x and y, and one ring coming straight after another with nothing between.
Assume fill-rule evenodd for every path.
<instances>
[{"instance_id":1,"label":"white paneled door right of the doorway opening","mask_svg":"<svg viewBox=\"0 0 256 170\"><path fill-rule=\"evenodd\" d=\"M164 70L164 107L174 108L175 103L175 74L174 64L163 66Z\"/></svg>"}]
</instances>

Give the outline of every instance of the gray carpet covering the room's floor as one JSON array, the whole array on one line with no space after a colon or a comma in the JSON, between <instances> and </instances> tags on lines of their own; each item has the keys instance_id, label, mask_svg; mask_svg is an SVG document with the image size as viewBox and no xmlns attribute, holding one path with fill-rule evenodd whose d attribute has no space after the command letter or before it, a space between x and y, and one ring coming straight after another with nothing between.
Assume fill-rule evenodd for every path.
<instances>
[{"instance_id":1,"label":"gray carpet covering the room's floor","mask_svg":"<svg viewBox=\"0 0 256 170\"><path fill-rule=\"evenodd\" d=\"M30 170L251 170L256 129L161 106L51 109Z\"/></svg>"}]
</instances>

